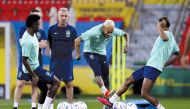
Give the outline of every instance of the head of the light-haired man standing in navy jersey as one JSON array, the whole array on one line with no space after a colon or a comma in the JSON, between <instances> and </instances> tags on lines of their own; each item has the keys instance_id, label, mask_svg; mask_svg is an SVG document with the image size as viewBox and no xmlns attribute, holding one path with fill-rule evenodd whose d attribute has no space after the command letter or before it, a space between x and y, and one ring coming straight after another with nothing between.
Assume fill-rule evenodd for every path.
<instances>
[{"instance_id":1,"label":"head of the light-haired man standing in navy jersey","mask_svg":"<svg viewBox=\"0 0 190 109\"><path fill-rule=\"evenodd\" d=\"M67 8L60 8L58 11L58 23L59 25L67 24L69 19L69 12Z\"/></svg>"}]
</instances>

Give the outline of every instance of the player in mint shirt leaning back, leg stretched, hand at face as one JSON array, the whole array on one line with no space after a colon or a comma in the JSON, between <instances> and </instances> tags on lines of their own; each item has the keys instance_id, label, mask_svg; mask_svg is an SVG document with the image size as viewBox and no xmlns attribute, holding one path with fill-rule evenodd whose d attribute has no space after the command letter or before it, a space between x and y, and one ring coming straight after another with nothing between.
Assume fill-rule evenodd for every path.
<instances>
[{"instance_id":1,"label":"player in mint shirt leaning back, leg stretched, hand at face","mask_svg":"<svg viewBox=\"0 0 190 109\"><path fill-rule=\"evenodd\" d=\"M150 94L150 92L163 68L179 59L180 54L174 36L168 30L170 27L168 18L161 17L157 27L160 35L157 37L153 45L146 66L132 73L132 75L126 79L119 90L117 90L111 98L104 99L97 97L99 102L112 107L112 104L118 99L119 96L127 91L131 84L143 78L144 80L141 88L141 96L148 100L157 109L165 109L159 101Z\"/></svg>"}]
</instances>

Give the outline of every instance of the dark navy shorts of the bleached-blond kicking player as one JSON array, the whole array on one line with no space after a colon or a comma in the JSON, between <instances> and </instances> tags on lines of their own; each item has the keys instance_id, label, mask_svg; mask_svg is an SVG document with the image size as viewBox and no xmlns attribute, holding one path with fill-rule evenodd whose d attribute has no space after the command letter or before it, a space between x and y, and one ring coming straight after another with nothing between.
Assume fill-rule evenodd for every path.
<instances>
[{"instance_id":1,"label":"dark navy shorts of the bleached-blond kicking player","mask_svg":"<svg viewBox=\"0 0 190 109\"><path fill-rule=\"evenodd\" d=\"M109 64L105 55L85 52L84 57L92 68L95 76L109 76Z\"/></svg>"}]
</instances>

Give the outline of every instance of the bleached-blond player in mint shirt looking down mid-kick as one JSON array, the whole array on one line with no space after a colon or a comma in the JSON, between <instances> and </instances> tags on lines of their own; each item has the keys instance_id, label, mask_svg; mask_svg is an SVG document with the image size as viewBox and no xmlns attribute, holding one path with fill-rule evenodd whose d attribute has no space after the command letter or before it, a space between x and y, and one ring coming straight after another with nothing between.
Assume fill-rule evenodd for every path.
<instances>
[{"instance_id":1,"label":"bleached-blond player in mint shirt looking down mid-kick","mask_svg":"<svg viewBox=\"0 0 190 109\"><path fill-rule=\"evenodd\" d=\"M125 37L124 52L127 53L129 35L115 28L115 23L112 20L105 20L103 24L91 28L75 39L76 59L80 59L80 43L83 41L84 57L92 68L95 81L106 98L113 92L109 90L109 64L106 59L106 45L113 36Z\"/></svg>"}]
</instances>

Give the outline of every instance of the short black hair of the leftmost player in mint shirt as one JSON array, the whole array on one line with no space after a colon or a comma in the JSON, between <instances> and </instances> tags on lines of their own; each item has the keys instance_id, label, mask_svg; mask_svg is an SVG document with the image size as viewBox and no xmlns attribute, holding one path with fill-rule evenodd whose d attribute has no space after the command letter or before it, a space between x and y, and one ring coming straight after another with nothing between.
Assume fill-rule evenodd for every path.
<instances>
[{"instance_id":1,"label":"short black hair of the leftmost player in mint shirt","mask_svg":"<svg viewBox=\"0 0 190 109\"><path fill-rule=\"evenodd\" d=\"M27 19L26 19L26 26L28 28L30 28L33 25L33 23L35 23L35 22L37 22L39 20L40 20L40 16L38 16L38 15L29 15L27 17Z\"/></svg>"}]
</instances>

